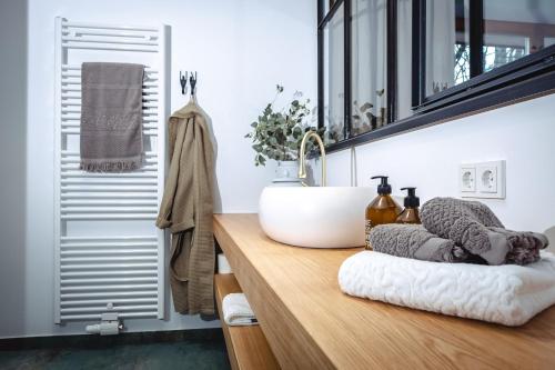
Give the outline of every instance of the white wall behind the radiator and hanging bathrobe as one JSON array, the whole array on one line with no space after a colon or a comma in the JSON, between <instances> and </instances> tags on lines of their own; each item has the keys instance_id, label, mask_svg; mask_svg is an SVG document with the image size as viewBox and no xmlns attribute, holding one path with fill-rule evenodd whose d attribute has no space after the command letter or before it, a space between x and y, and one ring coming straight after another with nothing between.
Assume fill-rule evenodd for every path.
<instances>
[{"instance_id":1,"label":"white wall behind the radiator and hanging bathrobe","mask_svg":"<svg viewBox=\"0 0 555 370\"><path fill-rule=\"evenodd\" d=\"M3 31L4 26L17 23L4 23L3 18L11 17L9 4L20 2L24 3L1 2L2 69L11 34L24 33L24 27ZM302 90L315 97L313 0L29 0L27 124L24 111L14 116L12 122L2 121L0 147L2 173L12 170L10 161L4 163L6 158L22 158L18 163L21 169L27 168L27 172L10 179L10 187L2 184L0 337L83 332L82 323L64 327L53 323L52 107L57 16L77 21L171 26L172 109L186 102L179 87L179 70L196 70L198 100L211 116L218 140L216 174L222 201L216 211L256 211L259 193L273 177L271 166L254 168L253 151L243 137L250 130L250 122L273 99L275 83L284 84L286 92ZM23 60L20 59L20 67L24 67ZM13 86L24 86L24 74L13 78ZM8 107L17 106L3 101L10 89L1 92L0 101ZM9 124L17 129L6 131L4 126ZM4 198L11 200L10 209L4 207ZM10 218L11 222L4 223ZM4 227L11 232L4 233ZM16 250L20 251L17 256ZM173 312L165 322L127 320L125 323L131 331L219 326Z\"/></svg>"}]
</instances>

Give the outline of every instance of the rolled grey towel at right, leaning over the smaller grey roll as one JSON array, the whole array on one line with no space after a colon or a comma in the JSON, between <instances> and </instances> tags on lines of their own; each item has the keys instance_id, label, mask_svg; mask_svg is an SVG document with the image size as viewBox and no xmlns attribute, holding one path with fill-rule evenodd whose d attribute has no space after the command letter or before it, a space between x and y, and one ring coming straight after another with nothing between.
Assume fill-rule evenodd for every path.
<instances>
[{"instance_id":1,"label":"rolled grey towel at right, leaning over the smaller grey roll","mask_svg":"<svg viewBox=\"0 0 555 370\"><path fill-rule=\"evenodd\" d=\"M451 239L488 264L526 264L539 259L547 238L535 232L506 230L492 210L480 202L434 198L422 206L427 231Z\"/></svg>"}]
</instances>

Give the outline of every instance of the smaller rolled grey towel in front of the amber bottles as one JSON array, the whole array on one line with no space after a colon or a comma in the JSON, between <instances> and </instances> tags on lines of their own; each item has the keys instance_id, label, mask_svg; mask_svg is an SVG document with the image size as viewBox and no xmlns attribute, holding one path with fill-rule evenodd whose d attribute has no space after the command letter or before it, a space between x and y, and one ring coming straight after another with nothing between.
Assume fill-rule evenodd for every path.
<instances>
[{"instance_id":1,"label":"smaller rolled grey towel in front of the amber bottles","mask_svg":"<svg viewBox=\"0 0 555 370\"><path fill-rule=\"evenodd\" d=\"M421 224L380 224L369 234L376 252L433 262L462 262L468 253L452 240L428 232Z\"/></svg>"}]
</instances>

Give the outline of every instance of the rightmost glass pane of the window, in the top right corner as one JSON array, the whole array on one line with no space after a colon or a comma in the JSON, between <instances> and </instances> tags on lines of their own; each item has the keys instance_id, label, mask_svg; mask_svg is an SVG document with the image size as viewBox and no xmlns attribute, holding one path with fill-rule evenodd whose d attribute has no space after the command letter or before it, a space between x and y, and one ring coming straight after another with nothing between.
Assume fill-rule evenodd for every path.
<instances>
[{"instance_id":1,"label":"rightmost glass pane of the window, in the top right corner","mask_svg":"<svg viewBox=\"0 0 555 370\"><path fill-rule=\"evenodd\" d=\"M555 1L484 0L484 72L539 51L555 37Z\"/></svg>"}]
</instances>

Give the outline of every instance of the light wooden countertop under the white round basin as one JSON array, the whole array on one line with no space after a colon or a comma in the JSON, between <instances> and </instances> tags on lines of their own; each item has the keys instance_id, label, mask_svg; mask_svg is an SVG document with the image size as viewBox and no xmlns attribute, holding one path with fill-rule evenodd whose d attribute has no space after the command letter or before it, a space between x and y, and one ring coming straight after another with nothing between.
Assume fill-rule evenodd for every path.
<instances>
[{"instance_id":1,"label":"light wooden countertop under the white round basin","mask_svg":"<svg viewBox=\"0 0 555 370\"><path fill-rule=\"evenodd\" d=\"M555 369L555 307L507 328L341 292L361 249L269 239L256 214L216 214L214 233L284 369Z\"/></svg>"}]
</instances>

